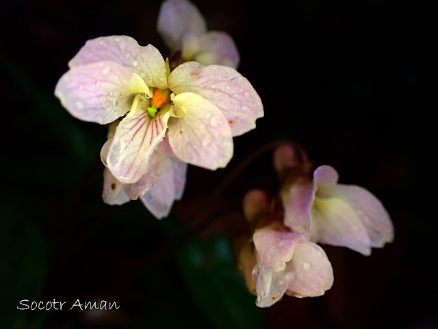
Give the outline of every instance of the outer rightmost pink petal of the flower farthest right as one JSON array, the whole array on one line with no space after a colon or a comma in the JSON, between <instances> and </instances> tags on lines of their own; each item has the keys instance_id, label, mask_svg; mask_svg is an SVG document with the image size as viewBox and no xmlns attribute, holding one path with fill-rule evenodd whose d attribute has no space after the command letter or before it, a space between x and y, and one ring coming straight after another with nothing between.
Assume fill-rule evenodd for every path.
<instances>
[{"instance_id":1,"label":"outer rightmost pink petal of the flower farthest right","mask_svg":"<svg viewBox=\"0 0 438 329\"><path fill-rule=\"evenodd\" d=\"M355 185L337 185L343 197L365 224L372 247L383 247L394 240L394 226L383 204L370 191Z\"/></svg>"}]
</instances>

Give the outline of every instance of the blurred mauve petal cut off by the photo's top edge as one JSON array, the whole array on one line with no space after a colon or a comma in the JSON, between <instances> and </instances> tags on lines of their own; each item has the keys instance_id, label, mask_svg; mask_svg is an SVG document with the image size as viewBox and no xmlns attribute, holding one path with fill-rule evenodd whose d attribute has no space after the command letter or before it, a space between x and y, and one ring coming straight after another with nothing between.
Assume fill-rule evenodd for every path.
<instances>
[{"instance_id":1,"label":"blurred mauve petal cut off by the photo's top edge","mask_svg":"<svg viewBox=\"0 0 438 329\"><path fill-rule=\"evenodd\" d=\"M157 30L171 50L181 47L184 34L198 34L206 29L205 19L190 1L168 0L162 3Z\"/></svg>"}]
</instances>

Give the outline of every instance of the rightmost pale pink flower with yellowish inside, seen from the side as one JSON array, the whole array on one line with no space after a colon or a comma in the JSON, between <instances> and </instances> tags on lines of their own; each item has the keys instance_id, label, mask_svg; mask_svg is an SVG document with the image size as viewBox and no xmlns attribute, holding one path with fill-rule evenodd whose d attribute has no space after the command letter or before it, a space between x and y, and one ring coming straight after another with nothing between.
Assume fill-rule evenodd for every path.
<instances>
[{"instance_id":1,"label":"rightmost pale pink flower with yellowish inside, seen from the side","mask_svg":"<svg viewBox=\"0 0 438 329\"><path fill-rule=\"evenodd\" d=\"M276 167L292 163L292 154L292 146L278 149ZM393 241L391 219L372 193L360 186L338 184L333 167L318 167L311 180L293 163L289 169L294 170L294 178L281 193L285 225L293 232L306 232L313 242L348 247L366 256L372 247Z\"/></svg>"}]
</instances>

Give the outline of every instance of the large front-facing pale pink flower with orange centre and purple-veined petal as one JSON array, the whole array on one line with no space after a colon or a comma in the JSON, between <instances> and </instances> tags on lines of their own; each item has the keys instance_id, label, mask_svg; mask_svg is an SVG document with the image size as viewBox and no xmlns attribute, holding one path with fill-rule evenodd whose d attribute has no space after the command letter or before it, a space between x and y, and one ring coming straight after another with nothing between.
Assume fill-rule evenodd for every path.
<instances>
[{"instance_id":1,"label":"large front-facing pale pink flower with orange centre and purple-veined petal","mask_svg":"<svg viewBox=\"0 0 438 329\"><path fill-rule=\"evenodd\" d=\"M168 179L181 184L185 180L179 176L163 178L175 166L185 173L180 162L225 167L233 155L232 137L253 129L263 117L259 95L231 67L185 62L170 73L155 47L141 47L129 36L89 40L69 66L55 95L70 114L101 124L126 114L103 152L113 176L105 174L107 182L114 178L120 182L116 186L128 186L107 198L114 204L144 195L157 175L163 184ZM165 137L169 147L162 160L155 150ZM131 193L125 196L127 189ZM151 204L153 198L143 201Z\"/></svg>"}]
</instances>

